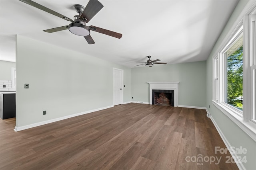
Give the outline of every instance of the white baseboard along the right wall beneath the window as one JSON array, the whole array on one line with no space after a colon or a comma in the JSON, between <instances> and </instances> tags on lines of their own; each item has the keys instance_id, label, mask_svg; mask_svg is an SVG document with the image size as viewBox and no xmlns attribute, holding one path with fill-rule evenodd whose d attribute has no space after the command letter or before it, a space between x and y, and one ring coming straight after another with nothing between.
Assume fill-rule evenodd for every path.
<instances>
[{"instance_id":1,"label":"white baseboard along the right wall beneath the window","mask_svg":"<svg viewBox=\"0 0 256 170\"><path fill-rule=\"evenodd\" d=\"M207 113L210 114L210 112L208 111L208 109L206 109ZM212 123L214 124L215 128L217 129L218 133L220 134L220 137L222 139L222 141L224 142L224 144L226 145L227 149L229 150L230 154L232 157L236 158L236 160L240 160L240 158L238 158L236 152L230 150L232 148L232 146L230 145L230 143L228 142L228 140L226 139L226 137L224 136L224 134L222 133L222 131L220 130L220 128L218 127L216 121L214 120L214 118L212 117L212 115L209 115L209 118L211 119ZM236 162L236 165L238 166L238 169L240 170L245 170L246 168L244 167L244 164L241 162L239 163L238 161Z\"/></svg>"}]
</instances>

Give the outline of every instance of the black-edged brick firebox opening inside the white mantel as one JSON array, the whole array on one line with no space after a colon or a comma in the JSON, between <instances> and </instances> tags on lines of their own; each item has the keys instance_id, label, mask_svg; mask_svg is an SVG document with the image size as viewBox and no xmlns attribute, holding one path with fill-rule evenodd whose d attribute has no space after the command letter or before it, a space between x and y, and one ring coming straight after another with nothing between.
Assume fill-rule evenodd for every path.
<instances>
[{"instance_id":1,"label":"black-edged brick firebox opening inside the white mantel","mask_svg":"<svg viewBox=\"0 0 256 170\"><path fill-rule=\"evenodd\" d=\"M152 90L152 104L174 106L174 90Z\"/></svg>"}]
</instances>

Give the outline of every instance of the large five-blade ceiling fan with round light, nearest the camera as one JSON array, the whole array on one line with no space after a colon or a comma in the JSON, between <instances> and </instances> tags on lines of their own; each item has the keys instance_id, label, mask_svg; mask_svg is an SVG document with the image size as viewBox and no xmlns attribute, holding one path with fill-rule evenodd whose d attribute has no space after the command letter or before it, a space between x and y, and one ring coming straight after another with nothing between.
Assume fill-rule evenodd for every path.
<instances>
[{"instance_id":1,"label":"large five-blade ceiling fan with round light, nearest the camera","mask_svg":"<svg viewBox=\"0 0 256 170\"><path fill-rule=\"evenodd\" d=\"M21 2L24 2L28 5L34 6L35 8L38 8L40 10L43 10L45 12L48 12L54 16L60 17L64 20L70 21L71 23L69 25L65 25L62 27L56 27L52 29L46 29L44 32L53 33L57 31L62 31L69 29L69 31L75 35L84 36L88 44L94 44L94 40L92 39L90 35L90 31L96 31L98 33L103 33L112 37L121 38L122 34L116 33L114 31L110 31L107 29L103 29L96 26L87 26L86 23L90 21L102 8L103 5L98 0L89 0L88 4L84 8L84 6L76 4L74 5L74 9L79 15L74 16L74 21L62 14L59 14L58 12L55 12L49 8L46 8L45 6L42 6L32 0L19 0Z\"/></svg>"}]
</instances>

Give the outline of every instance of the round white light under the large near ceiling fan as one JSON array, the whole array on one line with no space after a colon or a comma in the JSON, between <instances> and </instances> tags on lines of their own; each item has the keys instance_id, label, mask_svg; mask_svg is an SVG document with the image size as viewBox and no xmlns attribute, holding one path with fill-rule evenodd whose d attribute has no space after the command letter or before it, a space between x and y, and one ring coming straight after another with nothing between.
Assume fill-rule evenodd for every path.
<instances>
[{"instance_id":1,"label":"round white light under the large near ceiling fan","mask_svg":"<svg viewBox=\"0 0 256 170\"><path fill-rule=\"evenodd\" d=\"M75 34L75 35L79 35L79 36L87 36L90 35L90 27L83 25L82 23L70 23L68 25L68 30Z\"/></svg>"}]
</instances>

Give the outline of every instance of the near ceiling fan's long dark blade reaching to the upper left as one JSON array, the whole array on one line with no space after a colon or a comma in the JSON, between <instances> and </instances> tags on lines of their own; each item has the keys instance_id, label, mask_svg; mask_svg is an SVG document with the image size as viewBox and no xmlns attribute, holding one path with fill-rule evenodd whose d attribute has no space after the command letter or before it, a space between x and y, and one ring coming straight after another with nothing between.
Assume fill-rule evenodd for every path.
<instances>
[{"instance_id":1,"label":"near ceiling fan's long dark blade reaching to the upper left","mask_svg":"<svg viewBox=\"0 0 256 170\"><path fill-rule=\"evenodd\" d=\"M42 6L42 5L36 3L36 2L34 2L32 0L19 0L19 1L24 2L24 3L28 4L28 5L34 6L35 8L38 8L38 9L43 10L45 12L48 12L48 13L54 15L54 16L60 17L60 18L62 18L64 20L67 20L67 21L70 21L70 22L74 23L74 21L72 19L70 19L70 18L68 18L68 17L66 17L66 16L64 16L64 15L58 13L58 12L55 12L54 10L46 8L45 6Z\"/></svg>"}]
</instances>

